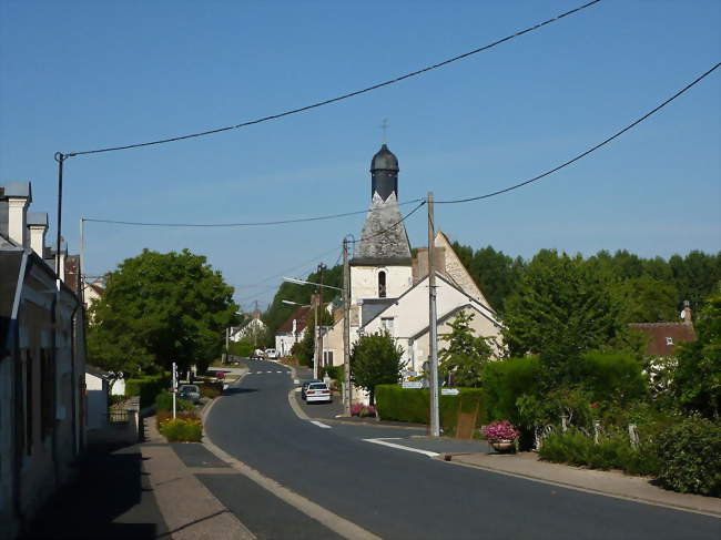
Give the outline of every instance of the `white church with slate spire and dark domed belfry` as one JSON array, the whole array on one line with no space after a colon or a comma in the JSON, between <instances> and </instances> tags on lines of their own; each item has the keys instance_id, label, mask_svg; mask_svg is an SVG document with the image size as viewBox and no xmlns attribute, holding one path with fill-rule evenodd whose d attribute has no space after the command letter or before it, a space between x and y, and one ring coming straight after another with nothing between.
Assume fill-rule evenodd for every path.
<instances>
[{"instance_id":1,"label":"white church with slate spire and dark domed belfry","mask_svg":"<svg viewBox=\"0 0 721 540\"><path fill-rule=\"evenodd\" d=\"M388 332L403 349L405 369L423 370L429 356L428 248L413 255L398 207L398 159L386 144L370 163L370 207L351 259L351 344L360 335ZM501 322L437 230L434 244L438 336L460 312L474 314L477 336L502 354ZM323 364L343 365L343 309L323 340ZM438 342L439 351L445 342Z\"/></svg>"}]
</instances>

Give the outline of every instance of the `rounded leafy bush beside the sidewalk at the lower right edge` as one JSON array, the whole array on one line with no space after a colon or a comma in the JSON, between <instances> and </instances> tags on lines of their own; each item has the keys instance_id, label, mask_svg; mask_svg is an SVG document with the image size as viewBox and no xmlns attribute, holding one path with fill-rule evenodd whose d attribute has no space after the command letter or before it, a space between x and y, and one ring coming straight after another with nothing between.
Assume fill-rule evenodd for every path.
<instances>
[{"instance_id":1,"label":"rounded leafy bush beside the sidewalk at the lower right edge","mask_svg":"<svg viewBox=\"0 0 721 540\"><path fill-rule=\"evenodd\" d=\"M659 481L682 493L721 497L721 424L687 418L659 437Z\"/></svg>"}]
</instances>

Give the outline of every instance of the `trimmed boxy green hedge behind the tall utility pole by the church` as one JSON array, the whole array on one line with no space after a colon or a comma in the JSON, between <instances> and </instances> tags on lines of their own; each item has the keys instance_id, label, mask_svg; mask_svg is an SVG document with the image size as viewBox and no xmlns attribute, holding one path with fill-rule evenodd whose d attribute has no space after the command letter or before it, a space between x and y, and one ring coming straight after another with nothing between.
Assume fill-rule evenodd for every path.
<instances>
[{"instance_id":1,"label":"trimmed boxy green hedge behind the tall utility pole by the church","mask_svg":"<svg viewBox=\"0 0 721 540\"><path fill-rule=\"evenodd\" d=\"M458 422L458 407L471 412L480 405L476 425L487 420L485 393L480 388L458 388L457 396L440 396L439 415L444 430L454 430ZM398 385L376 386L376 408L384 420L429 424L430 396L426 388L403 388Z\"/></svg>"}]
</instances>

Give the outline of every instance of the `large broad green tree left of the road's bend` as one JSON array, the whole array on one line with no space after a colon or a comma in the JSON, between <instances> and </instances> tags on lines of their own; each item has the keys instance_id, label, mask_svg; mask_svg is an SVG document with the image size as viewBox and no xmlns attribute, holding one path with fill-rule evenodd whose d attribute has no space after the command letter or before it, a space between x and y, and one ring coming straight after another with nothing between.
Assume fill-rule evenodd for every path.
<instances>
[{"instance_id":1,"label":"large broad green tree left of the road's bend","mask_svg":"<svg viewBox=\"0 0 721 540\"><path fill-rule=\"evenodd\" d=\"M204 370L223 350L225 328L237 323L232 294L205 257L143 249L109 274L105 294L93 305L89 340L109 339L116 349L130 342L128 350L145 350L163 368L175 361Z\"/></svg>"}]
</instances>

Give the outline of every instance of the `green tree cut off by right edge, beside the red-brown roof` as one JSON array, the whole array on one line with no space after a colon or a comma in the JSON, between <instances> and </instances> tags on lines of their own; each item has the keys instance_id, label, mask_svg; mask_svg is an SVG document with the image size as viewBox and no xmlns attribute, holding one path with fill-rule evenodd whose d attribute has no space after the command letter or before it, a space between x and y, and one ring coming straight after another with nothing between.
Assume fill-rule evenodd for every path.
<instances>
[{"instance_id":1,"label":"green tree cut off by right edge, beside the red-brown roof","mask_svg":"<svg viewBox=\"0 0 721 540\"><path fill-rule=\"evenodd\" d=\"M681 405L709 418L721 409L721 284L694 324L697 340L678 347L673 380Z\"/></svg>"}]
</instances>

